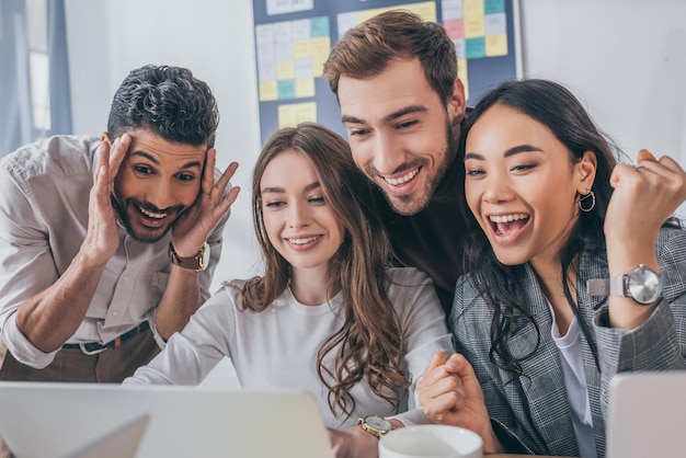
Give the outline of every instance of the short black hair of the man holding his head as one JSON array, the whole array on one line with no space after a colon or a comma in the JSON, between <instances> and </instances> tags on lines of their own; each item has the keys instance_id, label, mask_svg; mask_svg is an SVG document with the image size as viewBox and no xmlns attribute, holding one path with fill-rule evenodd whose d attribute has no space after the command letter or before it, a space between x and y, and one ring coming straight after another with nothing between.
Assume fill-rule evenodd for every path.
<instances>
[{"instance_id":1,"label":"short black hair of the man holding his head","mask_svg":"<svg viewBox=\"0 0 686 458\"><path fill-rule=\"evenodd\" d=\"M148 65L132 70L114 94L107 133L115 139L144 128L170 142L211 148L218 123L207 83L185 68Z\"/></svg>"}]
</instances>

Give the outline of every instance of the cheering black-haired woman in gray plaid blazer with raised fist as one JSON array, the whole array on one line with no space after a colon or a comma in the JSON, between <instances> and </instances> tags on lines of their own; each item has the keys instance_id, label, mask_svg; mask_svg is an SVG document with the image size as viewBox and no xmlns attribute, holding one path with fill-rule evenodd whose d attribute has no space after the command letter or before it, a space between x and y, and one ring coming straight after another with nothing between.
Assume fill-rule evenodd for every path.
<instances>
[{"instance_id":1,"label":"cheering black-haired woman in gray plaid blazer with raised fist","mask_svg":"<svg viewBox=\"0 0 686 458\"><path fill-rule=\"evenodd\" d=\"M434 357L420 400L485 453L603 457L611 376L686 368L686 231L671 218L686 174L645 150L617 162L550 81L502 84L467 128L457 353Z\"/></svg>"}]
</instances>

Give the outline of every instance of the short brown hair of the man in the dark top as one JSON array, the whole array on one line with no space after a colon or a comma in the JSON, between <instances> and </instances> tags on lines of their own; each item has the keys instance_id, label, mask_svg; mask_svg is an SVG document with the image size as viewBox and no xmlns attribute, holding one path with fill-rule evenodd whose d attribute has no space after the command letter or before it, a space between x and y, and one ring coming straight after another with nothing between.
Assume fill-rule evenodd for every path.
<instances>
[{"instance_id":1,"label":"short brown hair of the man in the dark top","mask_svg":"<svg viewBox=\"0 0 686 458\"><path fill-rule=\"evenodd\" d=\"M331 49L323 77L338 98L342 76L371 78L393 59L419 59L428 84L448 102L457 79L455 44L441 24L410 11L387 11L347 31Z\"/></svg>"}]
</instances>

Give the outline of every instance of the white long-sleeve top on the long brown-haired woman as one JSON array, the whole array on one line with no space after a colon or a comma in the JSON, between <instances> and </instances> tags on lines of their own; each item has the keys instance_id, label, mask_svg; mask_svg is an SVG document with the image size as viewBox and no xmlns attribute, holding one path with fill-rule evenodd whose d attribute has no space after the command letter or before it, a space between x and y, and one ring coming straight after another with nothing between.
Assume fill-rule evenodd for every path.
<instances>
[{"instance_id":1,"label":"white long-sleeve top on the long brown-haired woman","mask_svg":"<svg viewBox=\"0 0 686 458\"><path fill-rule=\"evenodd\" d=\"M336 417L328 404L328 389L317 375L322 343L343 324L342 295L320 306L299 304L287 288L263 312L243 310L244 280L225 283L191 318L167 347L124 383L197 385L221 360L231 358L242 387L300 389L312 394L328 427L347 427L361 416L395 415L405 425L422 423L414 385L436 351L453 353L451 336L431 279L415 268L388 270L388 296L398 314L405 353L402 368L410 375L410 394L396 411L376 397L363 379L351 394L356 405L347 419ZM324 365L332 371L330 352ZM409 411L408 411L409 410Z\"/></svg>"}]
</instances>

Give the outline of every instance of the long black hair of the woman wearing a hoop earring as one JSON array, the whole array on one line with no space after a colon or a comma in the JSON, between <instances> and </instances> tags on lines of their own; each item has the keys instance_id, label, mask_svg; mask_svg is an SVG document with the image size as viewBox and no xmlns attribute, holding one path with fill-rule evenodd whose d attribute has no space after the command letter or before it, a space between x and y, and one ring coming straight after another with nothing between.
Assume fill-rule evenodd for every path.
<instances>
[{"instance_id":1,"label":"long black hair of the woman wearing a hoop earring","mask_svg":"<svg viewBox=\"0 0 686 458\"><path fill-rule=\"evenodd\" d=\"M469 115L464 139L481 115L495 105L523 113L550 129L567 147L572 164L581 161L586 151L595 153L597 169L592 186L595 193L595 207L592 211L580 213L562 248L561 265L567 301L576 316L597 365L595 339L585 320L579 316L579 305L572 299L568 278L570 270L574 268L574 259L582 251L595 251L598 255L605 255L603 226L607 205L613 195L609 178L621 152L614 141L596 127L582 104L568 89L556 82L538 79L505 82L484 95ZM471 237L471 242L466 244L467 272L471 273L479 293L493 309L490 358L499 367L518 377L523 375L521 362L530 357L538 348L538 344L528 354L516 358L507 346L507 339L526 322L530 322L538 333L537 342L540 342L540 329L530 313L528 299L519 287L522 278L526 275L525 267L501 264L465 199L461 210L468 220L470 227L468 233Z\"/></svg>"}]
</instances>

